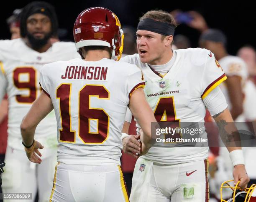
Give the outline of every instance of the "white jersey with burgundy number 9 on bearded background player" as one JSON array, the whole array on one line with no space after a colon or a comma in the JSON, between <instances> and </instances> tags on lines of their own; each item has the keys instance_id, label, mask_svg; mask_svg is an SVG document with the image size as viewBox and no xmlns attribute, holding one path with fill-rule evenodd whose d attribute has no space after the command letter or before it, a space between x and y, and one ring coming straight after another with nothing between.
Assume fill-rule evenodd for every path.
<instances>
[{"instance_id":1,"label":"white jersey with burgundy number 9 on bearded background player","mask_svg":"<svg viewBox=\"0 0 256 202\"><path fill-rule=\"evenodd\" d=\"M8 93L8 145L23 150L20 123L41 92L39 70L46 63L79 57L73 42L55 42L46 52L28 47L23 39L0 40L0 101ZM54 67L53 67L54 68ZM56 147L56 119L51 112L36 127L35 138Z\"/></svg>"}]
</instances>

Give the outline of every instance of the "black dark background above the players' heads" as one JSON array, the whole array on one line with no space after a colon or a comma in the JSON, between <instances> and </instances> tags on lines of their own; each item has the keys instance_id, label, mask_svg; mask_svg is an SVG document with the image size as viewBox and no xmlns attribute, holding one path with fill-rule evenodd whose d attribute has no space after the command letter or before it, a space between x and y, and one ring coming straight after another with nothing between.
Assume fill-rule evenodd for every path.
<instances>
[{"instance_id":1,"label":"black dark background above the players' heads","mask_svg":"<svg viewBox=\"0 0 256 202\"><path fill-rule=\"evenodd\" d=\"M6 18L12 15L16 8L21 8L31 1L5 1L1 8L0 17L0 39L9 39L10 33L5 22ZM106 7L119 17L121 25L137 26L138 18L148 10L162 9L172 11L181 9L183 11L196 10L206 19L209 27L219 28L228 37L228 52L235 55L237 50L243 45L256 46L256 8L249 1L161 1L161 0L71 0L71 1L47 1L54 5L59 17L59 27L68 30L66 38L73 41L73 25L77 15L82 10L93 7ZM3 5L3 2L2 2ZM197 40L200 33L187 25L179 25L175 34L184 34L192 42L192 47L197 47ZM175 35L174 35L175 36Z\"/></svg>"}]
</instances>

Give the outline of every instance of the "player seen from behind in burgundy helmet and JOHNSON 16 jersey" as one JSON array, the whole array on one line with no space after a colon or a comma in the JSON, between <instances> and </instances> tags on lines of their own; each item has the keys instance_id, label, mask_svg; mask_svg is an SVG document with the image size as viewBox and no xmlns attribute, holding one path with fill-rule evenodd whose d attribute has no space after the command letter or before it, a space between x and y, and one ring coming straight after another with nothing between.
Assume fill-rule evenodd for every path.
<instances>
[{"instance_id":1,"label":"player seen from behind in burgundy helmet and JOHNSON 16 jersey","mask_svg":"<svg viewBox=\"0 0 256 202\"><path fill-rule=\"evenodd\" d=\"M25 150L31 162L41 163L38 148L43 146L33 140L34 131L54 109L60 147L50 201L128 202L120 169L127 106L144 130L141 155L151 146L151 122L156 122L142 89L143 75L136 65L110 60L119 60L123 51L123 31L110 10L81 12L74 39L82 59L41 69L43 92L21 124L24 144L32 145Z\"/></svg>"}]
</instances>

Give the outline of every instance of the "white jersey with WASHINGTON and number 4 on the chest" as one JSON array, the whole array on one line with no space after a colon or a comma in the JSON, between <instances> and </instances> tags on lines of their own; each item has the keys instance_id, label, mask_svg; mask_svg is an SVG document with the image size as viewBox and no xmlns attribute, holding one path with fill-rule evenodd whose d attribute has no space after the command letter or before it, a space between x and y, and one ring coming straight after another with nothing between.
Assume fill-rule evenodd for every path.
<instances>
[{"instance_id":1,"label":"white jersey with WASHINGTON and number 4 on the chest","mask_svg":"<svg viewBox=\"0 0 256 202\"><path fill-rule=\"evenodd\" d=\"M146 100L157 121L204 122L203 99L227 77L209 50L180 49L174 50L174 54L177 54L176 60L164 77L153 72L148 64L140 62L138 54L121 60L136 64L142 70ZM137 124L137 127L140 126ZM206 135L205 131L203 133ZM172 165L204 160L207 152L208 147L151 147L142 157Z\"/></svg>"}]
</instances>

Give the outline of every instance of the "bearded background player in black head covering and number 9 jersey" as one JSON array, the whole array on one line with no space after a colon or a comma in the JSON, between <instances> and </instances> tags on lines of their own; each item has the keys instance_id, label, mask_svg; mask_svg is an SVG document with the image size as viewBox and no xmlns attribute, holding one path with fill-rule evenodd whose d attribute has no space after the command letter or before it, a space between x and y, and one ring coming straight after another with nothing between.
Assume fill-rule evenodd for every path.
<instances>
[{"instance_id":1,"label":"bearded background player in black head covering and number 9 jersey","mask_svg":"<svg viewBox=\"0 0 256 202\"><path fill-rule=\"evenodd\" d=\"M21 14L21 38L0 41L0 101L7 92L9 102L3 193L32 193L33 200L38 189L40 202L49 200L56 165L54 112L36 128L36 138L45 145L41 165L28 161L21 144L20 123L41 92L38 81L43 65L79 57L73 42L51 44L49 39L57 29L54 7L46 2L32 2Z\"/></svg>"}]
</instances>

